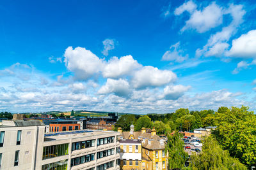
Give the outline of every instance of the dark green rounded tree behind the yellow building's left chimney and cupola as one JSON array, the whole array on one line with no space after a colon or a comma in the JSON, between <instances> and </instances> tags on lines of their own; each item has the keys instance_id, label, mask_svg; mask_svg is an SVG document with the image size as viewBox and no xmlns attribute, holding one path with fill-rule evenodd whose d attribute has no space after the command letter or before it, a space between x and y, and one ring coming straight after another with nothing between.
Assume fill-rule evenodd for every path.
<instances>
[{"instance_id":1,"label":"dark green rounded tree behind the yellow building's left chimney and cupola","mask_svg":"<svg viewBox=\"0 0 256 170\"><path fill-rule=\"evenodd\" d=\"M115 131L118 127L122 127L123 131L130 131L131 124L136 125L135 115L122 115L115 124Z\"/></svg>"}]
</instances>

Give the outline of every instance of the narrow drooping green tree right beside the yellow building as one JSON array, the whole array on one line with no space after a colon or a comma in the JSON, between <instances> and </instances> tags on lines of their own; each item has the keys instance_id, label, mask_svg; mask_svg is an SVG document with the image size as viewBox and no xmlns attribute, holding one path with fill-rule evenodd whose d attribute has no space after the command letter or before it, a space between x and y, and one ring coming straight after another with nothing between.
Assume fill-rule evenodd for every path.
<instances>
[{"instance_id":1,"label":"narrow drooping green tree right beside the yellow building","mask_svg":"<svg viewBox=\"0 0 256 170\"><path fill-rule=\"evenodd\" d=\"M184 167L186 160L188 160L188 153L184 150L182 134L175 132L173 135L168 135L166 150L168 150L169 154L168 166L170 169L180 169Z\"/></svg>"}]
</instances>

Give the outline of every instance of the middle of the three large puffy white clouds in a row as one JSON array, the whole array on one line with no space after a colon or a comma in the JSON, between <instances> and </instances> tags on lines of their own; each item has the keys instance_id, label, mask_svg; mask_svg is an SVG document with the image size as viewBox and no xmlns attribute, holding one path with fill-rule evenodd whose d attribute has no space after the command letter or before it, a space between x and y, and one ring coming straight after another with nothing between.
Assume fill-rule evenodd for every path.
<instances>
[{"instance_id":1,"label":"middle of the three large puffy white clouds in a row","mask_svg":"<svg viewBox=\"0 0 256 170\"><path fill-rule=\"evenodd\" d=\"M141 64L134 60L131 55L124 57L113 57L105 65L102 74L107 78L117 78L131 74L134 70L142 67Z\"/></svg>"}]
</instances>

